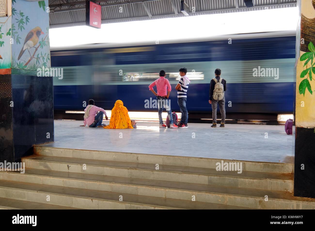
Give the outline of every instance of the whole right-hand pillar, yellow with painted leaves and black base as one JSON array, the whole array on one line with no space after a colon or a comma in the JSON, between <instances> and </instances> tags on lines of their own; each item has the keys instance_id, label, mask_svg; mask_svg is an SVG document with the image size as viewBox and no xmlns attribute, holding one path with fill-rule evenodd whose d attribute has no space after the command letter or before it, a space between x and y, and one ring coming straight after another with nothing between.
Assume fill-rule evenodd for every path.
<instances>
[{"instance_id":1,"label":"whole right-hand pillar, yellow with painted leaves and black base","mask_svg":"<svg viewBox=\"0 0 315 231\"><path fill-rule=\"evenodd\" d=\"M294 195L315 198L315 0L299 0Z\"/></svg>"}]
</instances>

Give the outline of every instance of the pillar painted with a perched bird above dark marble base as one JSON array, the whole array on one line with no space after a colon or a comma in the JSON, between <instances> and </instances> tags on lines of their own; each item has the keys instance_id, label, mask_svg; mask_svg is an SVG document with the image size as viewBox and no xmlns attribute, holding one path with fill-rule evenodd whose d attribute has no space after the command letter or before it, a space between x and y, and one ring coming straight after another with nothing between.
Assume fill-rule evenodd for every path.
<instances>
[{"instance_id":1,"label":"pillar painted with a perched bird above dark marble base","mask_svg":"<svg viewBox=\"0 0 315 231\"><path fill-rule=\"evenodd\" d=\"M5 0L0 12L0 162L17 162L32 146L54 141L48 0ZM1 0L0 0L0 4ZM38 74L39 73L39 74Z\"/></svg>"}]
</instances>

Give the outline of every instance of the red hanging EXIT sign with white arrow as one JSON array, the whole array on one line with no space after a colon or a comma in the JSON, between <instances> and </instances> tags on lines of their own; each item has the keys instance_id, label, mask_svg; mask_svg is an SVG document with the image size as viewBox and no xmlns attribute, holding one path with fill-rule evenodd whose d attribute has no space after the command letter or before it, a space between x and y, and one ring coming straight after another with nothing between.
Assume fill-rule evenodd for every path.
<instances>
[{"instance_id":1,"label":"red hanging EXIT sign with white arrow","mask_svg":"<svg viewBox=\"0 0 315 231\"><path fill-rule=\"evenodd\" d=\"M101 6L91 1L86 1L86 25L100 28Z\"/></svg>"}]
</instances>

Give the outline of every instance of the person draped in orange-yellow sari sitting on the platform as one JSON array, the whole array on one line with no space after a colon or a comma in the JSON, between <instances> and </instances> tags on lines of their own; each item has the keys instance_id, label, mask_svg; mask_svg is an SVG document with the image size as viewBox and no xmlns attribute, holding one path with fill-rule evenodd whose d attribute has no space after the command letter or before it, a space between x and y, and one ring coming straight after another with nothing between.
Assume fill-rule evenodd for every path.
<instances>
[{"instance_id":1,"label":"person draped in orange-yellow sari sitting on the platform","mask_svg":"<svg viewBox=\"0 0 315 231\"><path fill-rule=\"evenodd\" d=\"M112 109L111 120L106 129L133 128L128 115L127 107L123 106L123 101L117 100Z\"/></svg>"}]
</instances>

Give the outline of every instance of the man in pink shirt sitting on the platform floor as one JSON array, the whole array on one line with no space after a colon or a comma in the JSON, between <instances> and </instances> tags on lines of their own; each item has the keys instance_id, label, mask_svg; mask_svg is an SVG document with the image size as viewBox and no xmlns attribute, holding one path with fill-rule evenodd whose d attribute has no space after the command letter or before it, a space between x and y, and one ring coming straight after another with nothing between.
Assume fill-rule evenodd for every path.
<instances>
[{"instance_id":1,"label":"man in pink shirt sitting on the platform floor","mask_svg":"<svg viewBox=\"0 0 315 231\"><path fill-rule=\"evenodd\" d=\"M86 124L88 124L90 128L106 126L105 124L102 124L104 114L106 120L108 120L106 111L103 108L96 107L94 104L94 100L90 99L89 105L84 109L84 125L80 126L84 127ZM97 112L99 113L96 115Z\"/></svg>"}]
</instances>

